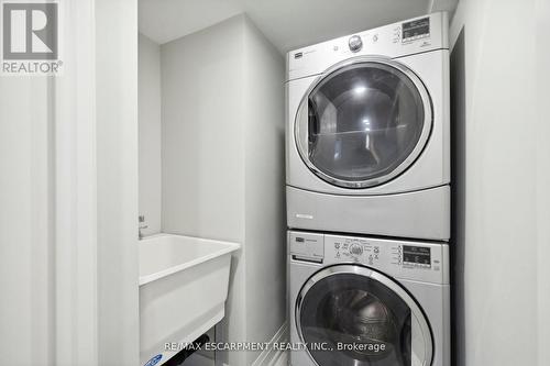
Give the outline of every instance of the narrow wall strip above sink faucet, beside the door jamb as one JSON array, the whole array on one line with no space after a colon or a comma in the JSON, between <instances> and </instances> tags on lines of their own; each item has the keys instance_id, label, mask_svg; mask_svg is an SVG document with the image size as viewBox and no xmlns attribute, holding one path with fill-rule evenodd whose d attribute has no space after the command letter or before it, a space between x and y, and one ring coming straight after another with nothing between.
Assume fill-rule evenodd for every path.
<instances>
[{"instance_id":1,"label":"narrow wall strip above sink faucet, beside the door jamb","mask_svg":"<svg viewBox=\"0 0 550 366\"><path fill-rule=\"evenodd\" d=\"M161 232L161 46L139 35L140 214L144 235Z\"/></svg>"}]
</instances>

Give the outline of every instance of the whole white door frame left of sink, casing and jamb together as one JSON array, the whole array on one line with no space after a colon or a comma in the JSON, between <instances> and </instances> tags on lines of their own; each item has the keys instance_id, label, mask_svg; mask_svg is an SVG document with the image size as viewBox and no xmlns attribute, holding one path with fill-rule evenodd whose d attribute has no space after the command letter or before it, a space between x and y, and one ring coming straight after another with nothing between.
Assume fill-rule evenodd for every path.
<instances>
[{"instance_id":1,"label":"whole white door frame left of sink, casing and jamb together","mask_svg":"<svg viewBox=\"0 0 550 366\"><path fill-rule=\"evenodd\" d=\"M138 5L59 4L63 75L50 81L55 365L138 365Z\"/></svg>"}]
</instances>

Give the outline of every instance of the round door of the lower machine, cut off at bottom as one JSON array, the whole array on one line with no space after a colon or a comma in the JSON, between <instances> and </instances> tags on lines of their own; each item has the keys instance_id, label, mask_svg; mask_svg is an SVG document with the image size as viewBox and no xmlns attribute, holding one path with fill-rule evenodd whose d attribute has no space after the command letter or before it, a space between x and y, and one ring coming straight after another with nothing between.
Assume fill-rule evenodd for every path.
<instances>
[{"instance_id":1,"label":"round door of the lower machine, cut off at bottom","mask_svg":"<svg viewBox=\"0 0 550 366\"><path fill-rule=\"evenodd\" d=\"M321 269L296 301L300 341L319 366L429 366L432 339L398 284L359 265Z\"/></svg>"}]
</instances>

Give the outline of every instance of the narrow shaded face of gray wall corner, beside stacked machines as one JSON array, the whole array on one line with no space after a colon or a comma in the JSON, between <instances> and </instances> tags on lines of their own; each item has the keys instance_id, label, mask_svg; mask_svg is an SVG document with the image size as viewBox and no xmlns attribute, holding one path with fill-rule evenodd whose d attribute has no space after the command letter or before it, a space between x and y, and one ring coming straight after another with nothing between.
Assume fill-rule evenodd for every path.
<instances>
[{"instance_id":1,"label":"narrow shaded face of gray wall corner, beside stacked machines","mask_svg":"<svg viewBox=\"0 0 550 366\"><path fill-rule=\"evenodd\" d=\"M246 18L244 63L246 337L263 342L286 319L285 63Z\"/></svg>"}]
</instances>

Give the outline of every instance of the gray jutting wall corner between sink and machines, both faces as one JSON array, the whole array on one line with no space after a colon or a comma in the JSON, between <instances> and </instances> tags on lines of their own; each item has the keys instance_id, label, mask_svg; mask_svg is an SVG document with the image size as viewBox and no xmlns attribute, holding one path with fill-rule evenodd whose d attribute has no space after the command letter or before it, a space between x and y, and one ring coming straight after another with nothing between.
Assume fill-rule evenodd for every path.
<instances>
[{"instance_id":1,"label":"gray jutting wall corner between sink and machines, both faces","mask_svg":"<svg viewBox=\"0 0 550 366\"><path fill-rule=\"evenodd\" d=\"M163 231L242 243L218 341L267 342L286 309L283 56L244 15L161 54Z\"/></svg>"}]
</instances>

